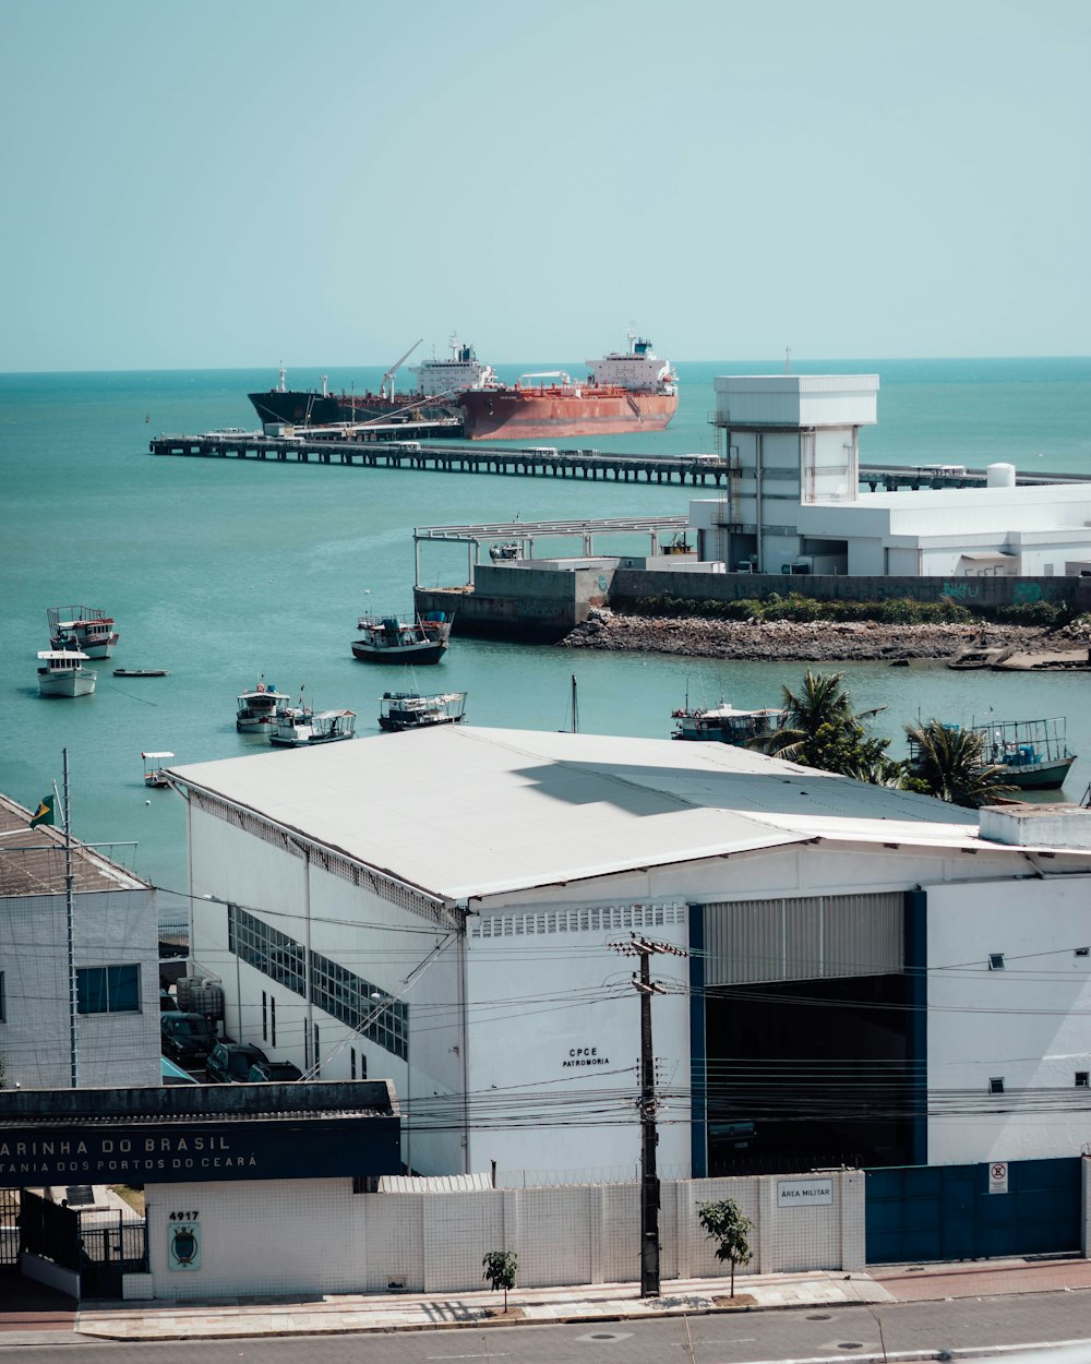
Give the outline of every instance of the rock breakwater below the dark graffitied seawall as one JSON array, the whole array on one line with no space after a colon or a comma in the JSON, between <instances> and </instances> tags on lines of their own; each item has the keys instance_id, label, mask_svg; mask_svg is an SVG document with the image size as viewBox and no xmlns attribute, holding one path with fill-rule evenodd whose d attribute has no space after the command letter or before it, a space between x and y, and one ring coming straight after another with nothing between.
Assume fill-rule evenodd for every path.
<instances>
[{"instance_id":1,"label":"rock breakwater below the dark graffitied seawall","mask_svg":"<svg viewBox=\"0 0 1091 1364\"><path fill-rule=\"evenodd\" d=\"M951 659L970 644L1041 649L1049 632L1026 625L881 625L877 621L708 621L592 610L562 640L570 649L675 653L754 663Z\"/></svg>"}]
</instances>

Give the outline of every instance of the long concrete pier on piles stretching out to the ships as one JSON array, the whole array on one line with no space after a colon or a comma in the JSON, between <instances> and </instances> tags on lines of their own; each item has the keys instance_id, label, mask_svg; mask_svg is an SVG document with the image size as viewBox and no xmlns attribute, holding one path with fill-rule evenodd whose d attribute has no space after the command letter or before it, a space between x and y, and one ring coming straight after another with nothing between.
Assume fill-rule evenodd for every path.
<instances>
[{"instance_id":1,"label":"long concrete pier on piles stretching out to the ships","mask_svg":"<svg viewBox=\"0 0 1091 1364\"><path fill-rule=\"evenodd\" d=\"M251 432L160 435L149 442L151 454L205 460L254 460L274 464L342 465L361 469L424 469L438 473L502 473L524 477L586 479L614 483L681 483L727 490L735 471L711 454L614 454L585 449L498 447L394 439L394 430L376 430L374 439L265 436ZM859 481L871 491L884 488L985 487L985 469L955 465L861 465ZM1091 475L1023 473L1019 484L1088 483Z\"/></svg>"}]
</instances>

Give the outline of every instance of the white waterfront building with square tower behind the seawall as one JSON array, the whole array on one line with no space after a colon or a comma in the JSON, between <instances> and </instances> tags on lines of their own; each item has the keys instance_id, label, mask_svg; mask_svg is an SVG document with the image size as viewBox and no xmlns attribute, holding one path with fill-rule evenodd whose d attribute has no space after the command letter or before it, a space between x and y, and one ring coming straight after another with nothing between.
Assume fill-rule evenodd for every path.
<instances>
[{"instance_id":1,"label":"white waterfront building with square tower behind the seawall","mask_svg":"<svg viewBox=\"0 0 1091 1364\"><path fill-rule=\"evenodd\" d=\"M1016 487L1015 469L996 464L983 488L862 492L859 438L877 420L877 375L715 385L728 473L717 499L690 503L701 559L852 577L1091 574L1088 484Z\"/></svg>"}]
</instances>

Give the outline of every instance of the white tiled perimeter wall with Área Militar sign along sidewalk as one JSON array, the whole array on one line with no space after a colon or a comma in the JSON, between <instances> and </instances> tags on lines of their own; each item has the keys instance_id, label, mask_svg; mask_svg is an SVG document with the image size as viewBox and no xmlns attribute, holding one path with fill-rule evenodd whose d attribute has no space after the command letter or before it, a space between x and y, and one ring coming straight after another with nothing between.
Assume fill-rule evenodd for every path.
<instances>
[{"instance_id":1,"label":"white tiled perimeter wall with \u00c1rea Militar sign along sidewalk","mask_svg":"<svg viewBox=\"0 0 1091 1364\"><path fill-rule=\"evenodd\" d=\"M832 1202L806 1207L777 1204L777 1184L791 1176L666 1181L663 1281L724 1275L697 1217L698 1203L723 1198L754 1221L754 1258L741 1273L863 1269L863 1173L825 1177ZM146 1194L143 1281L158 1299L466 1293L485 1286L481 1259L499 1249L518 1255L524 1289L640 1279L638 1184L355 1195L349 1180L297 1180L161 1184ZM176 1209L200 1210L199 1269L168 1269Z\"/></svg>"}]
</instances>

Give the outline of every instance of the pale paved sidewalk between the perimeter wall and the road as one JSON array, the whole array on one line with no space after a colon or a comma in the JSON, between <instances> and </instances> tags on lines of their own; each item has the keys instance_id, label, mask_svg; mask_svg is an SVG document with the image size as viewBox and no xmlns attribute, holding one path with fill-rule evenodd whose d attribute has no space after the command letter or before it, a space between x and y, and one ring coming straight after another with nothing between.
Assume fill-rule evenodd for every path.
<instances>
[{"instance_id":1,"label":"pale paved sidewalk between the perimeter wall and the road","mask_svg":"<svg viewBox=\"0 0 1091 1364\"><path fill-rule=\"evenodd\" d=\"M175 1303L93 1303L74 1307L71 1326L33 1329L22 1314L14 1330L0 1326L0 1346L60 1345L89 1338L116 1341L224 1339L255 1335L322 1335L365 1331L439 1330L521 1323L637 1320L721 1311L837 1307L925 1299L1091 1289L1091 1262L1081 1259L990 1260L959 1264L884 1266L871 1274L739 1274L735 1299L728 1279L670 1279L659 1299L641 1299L637 1284L490 1290L455 1294L323 1294L282 1303L218 1299ZM37 1324L37 1323L35 1323Z\"/></svg>"}]
</instances>

